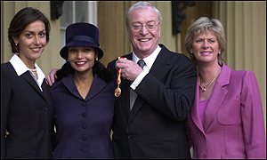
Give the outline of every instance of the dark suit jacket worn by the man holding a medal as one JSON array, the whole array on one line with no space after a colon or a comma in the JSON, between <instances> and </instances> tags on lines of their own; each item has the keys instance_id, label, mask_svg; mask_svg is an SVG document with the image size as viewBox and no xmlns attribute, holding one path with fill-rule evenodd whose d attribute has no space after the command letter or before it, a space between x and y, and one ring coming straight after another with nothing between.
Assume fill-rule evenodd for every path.
<instances>
[{"instance_id":1,"label":"dark suit jacket worn by the man holding a medal","mask_svg":"<svg viewBox=\"0 0 267 160\"><path fill-rule=\"evenodd\" d=\"M190 158L185 121L194 100L196 68L162 44L150 73L135 89L130 111L130 84L122 79L115 104L113 141L116 158ZM131 60L132 53L124 56ZM108 64L116 74L116 60Z\"/></svg>"}]
</instances>

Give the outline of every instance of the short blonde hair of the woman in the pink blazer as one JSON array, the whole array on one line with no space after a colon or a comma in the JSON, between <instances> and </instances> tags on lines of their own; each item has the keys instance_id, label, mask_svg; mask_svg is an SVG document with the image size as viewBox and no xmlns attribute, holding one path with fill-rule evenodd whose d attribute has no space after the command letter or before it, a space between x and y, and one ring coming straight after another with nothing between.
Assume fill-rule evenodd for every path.
<instances>
[{"instance_id":1,"label":"short blonde hair of the woman in the pink blazer","mask_svg":"<svg viewBox=\"0 0 267 160\"><path fill-rule=\"evenodd\" d=\"M194 37L199 36L202 33L206 33L207 31L214 32L218 40L219 47L221 50L221 53L218 54L218 60L219 64L222 65L223 64L222 54L226 49L226 39L225 39L223 24L221 23L220 20L209 19L207 17L200 17L198 20L194 21L188 28L185 36L186 52L189 53L191 60L194 60L194 56L191 53Z\"/></svg>"}]
</instances>

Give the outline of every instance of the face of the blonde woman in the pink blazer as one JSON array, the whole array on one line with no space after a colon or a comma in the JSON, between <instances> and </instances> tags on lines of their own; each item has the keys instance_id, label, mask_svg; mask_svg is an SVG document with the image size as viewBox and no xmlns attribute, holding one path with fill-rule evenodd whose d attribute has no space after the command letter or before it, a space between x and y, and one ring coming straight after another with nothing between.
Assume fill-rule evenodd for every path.
<instances>
[{"instance_id":1,"label":"face of the blonde woman in the pink blazer","mask_svg":"<svg viewBox=\"0 0 267 160\"><path fill-rule=\"evenodd\" d=\"M200 33L193 39L192 51L198 63L218 63L220 46L213 31Z\"/></svg>"}]
</instances>

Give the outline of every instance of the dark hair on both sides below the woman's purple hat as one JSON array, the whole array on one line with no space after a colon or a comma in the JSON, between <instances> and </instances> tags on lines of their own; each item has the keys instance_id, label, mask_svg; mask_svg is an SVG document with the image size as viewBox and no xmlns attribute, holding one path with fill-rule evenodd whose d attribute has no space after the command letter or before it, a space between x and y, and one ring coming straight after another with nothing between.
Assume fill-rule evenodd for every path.
<instances>
[{"instance_id":1,"label":"dark hair on both sides below the woman's purple hat","mask_svg":"<svg viewBox=\"0 0 267 160\"><path fill-rule=\"evenodd\" d=\"M59 69L56 73L57 79L61 80L65 76L69 76L70 74L74 74L74 68L70 66L69 61L67 61L61 69ZM112 72L105 68L103 64L99 60L94 60L93 65L93 75L97 74L101 77L106 83L112 81L114 79Z\"/></svg>"}]
</instances>

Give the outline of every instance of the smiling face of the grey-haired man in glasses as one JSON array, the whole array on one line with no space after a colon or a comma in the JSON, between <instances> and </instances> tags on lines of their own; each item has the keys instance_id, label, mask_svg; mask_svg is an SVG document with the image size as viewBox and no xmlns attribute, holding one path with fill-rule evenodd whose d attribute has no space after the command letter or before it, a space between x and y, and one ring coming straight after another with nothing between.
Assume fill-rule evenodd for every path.
<instances>
[{"instance_id":1,"label":"smiling face of the grey-haired man in glasses","mask_svg":"<svg viewBox=\"0 0 267 160\"><path fill-rule=\"evenodd\" d=\"M129 14L128 34L134 53L145 58L154 52L160 37L160 23L157 12L151 7L138 8ZM154 25L153 26L151 26ZM134 29L140 26L140 29Z\"/></svg>"}]
</instances>

